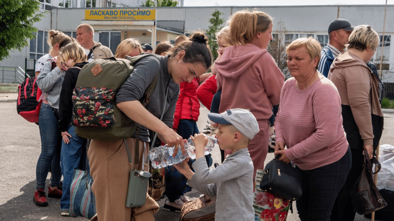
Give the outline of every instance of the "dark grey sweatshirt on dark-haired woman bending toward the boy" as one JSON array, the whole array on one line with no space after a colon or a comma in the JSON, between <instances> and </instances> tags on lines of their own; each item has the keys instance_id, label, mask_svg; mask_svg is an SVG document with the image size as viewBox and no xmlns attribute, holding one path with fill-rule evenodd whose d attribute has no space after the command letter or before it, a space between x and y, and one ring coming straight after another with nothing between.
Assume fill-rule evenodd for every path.
<instances>
[{"instance_id":1,"label":"dark grey sweatshirt on dark-haired woman bending toward the boy","mask_svg":"<svg viewBox=\"0 0 394 221\"><path fill-rule=\"evenodd\" d=\"M135 65L130 77L123 83L116 94L116 103L124 101L135 101L142 98L145 90L152 83L156 73L159 72L158 81L154 88L149 103L145 106L151 114L160 118L164 111L162 122L168 127L172 128L175 105L177 104L179 85L175 83L168 74L167 68L168 55L161 56L160 62L153 56L144 57ZM165 88L169 83L168 97L165 101ZM164 107L164 101L167 102ZM146 127L141 126L139 138L142 141L149 141L148 131ZM136 134L134 134L135 137Z\"/></svg>"}]
</instances>

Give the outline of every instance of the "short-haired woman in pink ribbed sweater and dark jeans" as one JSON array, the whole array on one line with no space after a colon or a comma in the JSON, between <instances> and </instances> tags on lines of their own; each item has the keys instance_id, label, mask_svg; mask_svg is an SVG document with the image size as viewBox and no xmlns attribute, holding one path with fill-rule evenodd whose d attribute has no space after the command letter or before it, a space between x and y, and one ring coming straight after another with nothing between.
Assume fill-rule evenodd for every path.
<instances>
[{"instance_id":1,"label":"short-haired woman in pink ribbed sweater and dark jeans","mask_svg":"<svg viewBox=\"0 0 394 221\"><path fill-rule=\"evenodd\" d=\"M311 37L287 46L292 78L283 85L275 120L275 155L293 161L301 177L303 196L296 202L301 221L330 220L351 168L338 91L317 71L320 51Z\"/></svg>"}]
</instances>

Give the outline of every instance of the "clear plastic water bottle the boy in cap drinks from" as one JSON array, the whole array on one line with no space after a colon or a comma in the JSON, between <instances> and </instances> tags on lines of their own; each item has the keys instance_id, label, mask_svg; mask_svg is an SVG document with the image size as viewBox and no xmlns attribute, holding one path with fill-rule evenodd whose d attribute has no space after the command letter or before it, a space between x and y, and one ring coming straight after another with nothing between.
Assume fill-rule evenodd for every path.
<instances>
[{"instance_id":1,"label":"clear plastic water bottle the boy in cap drinks from","mask_svg":"<svg viewBox=\"0 0 394 221\"><path fill-rule=\"evenodd\" d=\"M216 143L216 138L208 136L208 144L205 146L204 155L211 153ZM149 158L151 159L152 167L159 169L180 163L186 159L186 157L190 157L192 159L196 158L195 145L191 138L189 138L188 142L185 144L186 156L182 155L182 150L179 148L177 155L172 157L174 149L175 147L167 147L167 145L152 148L151 151L149 151Z\"/></svg>"}]
</instances>

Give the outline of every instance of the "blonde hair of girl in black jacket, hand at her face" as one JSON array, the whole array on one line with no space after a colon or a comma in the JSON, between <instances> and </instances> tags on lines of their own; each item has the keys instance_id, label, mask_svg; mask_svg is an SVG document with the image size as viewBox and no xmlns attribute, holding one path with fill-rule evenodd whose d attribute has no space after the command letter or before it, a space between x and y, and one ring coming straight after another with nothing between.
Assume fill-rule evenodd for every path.
<instances>
[{"instance_id":1,"label":"blonde hair of girl in black jacket, hand at her face","mask_svg":"<svg viewBox=\"0 0 394 221\"><path fill-rule=\"evenodd\" d=\"M60 49L58 60L62 63L65 63L69 59L72 59L72 66L76 63L81 63L87 61L87 56L84 48L75 42L71 42L66 44L63 48ZM71 67L69 67L71 68Z\"/></svg>"}]
</instances>

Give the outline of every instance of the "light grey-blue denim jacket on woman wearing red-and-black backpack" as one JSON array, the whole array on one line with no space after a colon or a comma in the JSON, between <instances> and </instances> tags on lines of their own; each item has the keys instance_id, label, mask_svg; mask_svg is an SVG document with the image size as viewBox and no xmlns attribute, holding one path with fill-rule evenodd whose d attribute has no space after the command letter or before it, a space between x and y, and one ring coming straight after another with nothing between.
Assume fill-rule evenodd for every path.
<instances>
[{"instance_id":1,"label":"light grey-blue denim jacket on woman wearing red-and-black backpack","mask_svg":"<svg viewBox=\"0 0 394 221\"><path fill-rule=\"evenodd\" d=\"M46 101L53 108L59 109L59 96L61 90L61 84L63 83L64 74L62 70L55 67L52 71L52 60L47 61L37 76L37 85L43 92L48 92Z\"/></svg>"}]
</instances>

